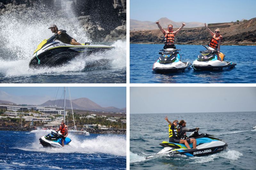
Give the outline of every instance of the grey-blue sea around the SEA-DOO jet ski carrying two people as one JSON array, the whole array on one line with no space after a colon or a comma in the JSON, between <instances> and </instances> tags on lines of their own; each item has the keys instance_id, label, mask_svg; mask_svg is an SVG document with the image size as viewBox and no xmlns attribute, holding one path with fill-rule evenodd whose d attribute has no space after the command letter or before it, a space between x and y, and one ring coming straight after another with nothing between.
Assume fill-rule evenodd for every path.
<instances>
[{"instance_id":1,"label":"grey-blue sea around the SEA-DOO jet ski carrying two people","mask_svg":"<svg viewBox=\"0 0 256 170\"><path fill-rule=\"evenodd\" d=\"M199 127L228 143L228 148L215 154L187 157L160 155L162 141L169 141L168 123L164 117L185 120L188 128ZM255 169L256 112L169 113L130 115L130 169ZM189 134L188 132L187 134Z\"/></svg>"}]
</instances>

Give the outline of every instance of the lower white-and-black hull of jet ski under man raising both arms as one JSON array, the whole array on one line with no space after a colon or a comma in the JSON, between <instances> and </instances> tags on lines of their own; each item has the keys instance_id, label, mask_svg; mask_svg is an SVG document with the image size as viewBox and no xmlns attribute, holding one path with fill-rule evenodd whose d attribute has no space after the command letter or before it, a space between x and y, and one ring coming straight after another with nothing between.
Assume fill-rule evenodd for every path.
<instances>
[{"instance_id":1,"label":"lower white-and-black hull of jet ski under man raising both arms","mask_svg":"<svg viewBox=\"0 0 256 170\"><path fill-rule=\"evenodd\" d=\"M155 62L153 65L153 71L154 73L159 74L168 74L168 73L179 73L179 72L185 72L186 68L189 68L191 66L191 63L189 62L174 62L171 64L161 64L158 62Z\"/></svg>"}]
</instances>

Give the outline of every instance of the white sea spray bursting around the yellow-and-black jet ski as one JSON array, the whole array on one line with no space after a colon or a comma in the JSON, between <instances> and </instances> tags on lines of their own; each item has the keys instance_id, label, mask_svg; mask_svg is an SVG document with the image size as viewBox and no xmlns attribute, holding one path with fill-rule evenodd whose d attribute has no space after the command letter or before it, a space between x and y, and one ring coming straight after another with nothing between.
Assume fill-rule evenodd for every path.
<instances>
[{"instance_id":1,"label":"white sea spray bursting around the yellow-and-black jet ski","mask_svg":"<svg viewBox=\"0 0 256 170\"><path fill-rule=\"evenodd\" d=\"M61 7L67 5L60 4ZM64 12L63 12L64 11ZM102 57L110 60L108 67L97 66L93 69L108 69L126 67L126 42L114 42L115 49L106 54L82 56L64 66L52 68L31 69L28 63L36 46L53 35L49 25L56 24L59 29L67 30L68 34L78 42L90 42L78 19L70 8L64 8L61 15L46 6L37 6L28 11L10 12L0 16L0 73L5 77L29 76L39 74L59 74L63 72L83 72L91 61ZM95 41L95 40L94 40ZM97 40L96 40L97 41ZM107 42L103 44L111 45ZM87 59L87 57L89 59ZM99 64L101 64L99 62ZM104 63L103 63L104 64Z\"/></svg>"}]
</instances>

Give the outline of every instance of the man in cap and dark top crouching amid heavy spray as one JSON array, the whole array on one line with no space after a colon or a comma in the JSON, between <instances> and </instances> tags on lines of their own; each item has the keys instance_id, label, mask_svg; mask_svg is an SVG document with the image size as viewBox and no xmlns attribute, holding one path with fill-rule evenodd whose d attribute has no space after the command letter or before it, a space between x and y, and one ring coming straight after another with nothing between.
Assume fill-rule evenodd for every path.
<instances>
[{"instance_id":1,"label":"man in cap and dark top crouching amid heavy spray","mask_svg":"<svg viewBox=\"0 0 256 170\"><path fill-rule=\"evenodd\" d=\"M72 44L72 45L82 45L79 42L76 42L76 39L73 39L67 34L66 30L58 30L58 27L53 24L48 29L51 29L52 33L58 33L59 36L56 37L57 40L65 43L65 44Z\"/></svg>"}]
</instances>

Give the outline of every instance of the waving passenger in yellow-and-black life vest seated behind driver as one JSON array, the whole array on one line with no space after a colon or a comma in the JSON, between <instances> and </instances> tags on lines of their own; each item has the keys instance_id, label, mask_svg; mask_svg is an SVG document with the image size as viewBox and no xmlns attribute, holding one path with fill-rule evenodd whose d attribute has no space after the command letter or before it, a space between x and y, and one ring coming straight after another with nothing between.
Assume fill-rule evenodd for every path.
<instances>
[{"instance_id":1,"label":"waving passenger in yellow-and-black life vest seated behind driver","mask_svg":"<svg viewBox=\"0 0 256 170\"><path fill-rule=\"evenodd\" d=\"M189 146L189 143L190 140L186 139L186 140L183 140L183 139L179 139L178 137L178 129L177 129L177 125L179 124L179 121L178 120L174 120L173 122L170 122L168 120L168 117L165 117L164 118L169 124L169 142L172 142L172 143L178 143L178 144L185 144L185 146L188 148L188 149L191 149L190 146Z\"/></svg>"}]
</instances>

